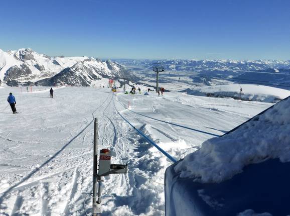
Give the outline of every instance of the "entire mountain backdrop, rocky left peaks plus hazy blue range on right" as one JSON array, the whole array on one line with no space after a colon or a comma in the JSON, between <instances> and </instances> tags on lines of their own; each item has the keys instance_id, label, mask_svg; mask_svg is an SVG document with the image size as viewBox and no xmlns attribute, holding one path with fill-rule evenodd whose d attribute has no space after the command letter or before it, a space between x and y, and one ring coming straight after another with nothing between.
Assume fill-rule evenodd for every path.
<instances>
[{"instance_id":1,"label":"entire mountain backdrop, rocky left peaks plus hazy blue range on right","mask_svg":"<svg viewBox=\"0 0 290 216\"><path fill-rule=\"evenodd\" d=\"M96 80L114 77L120 80L138 81L128 68L138 71L152 71L157 63L166 71L198 72L200 75L238 77L242 80L255 78L263 82L289 83L290 61L279 60L132 60L117 59L101 61L92 57L49 57L32 49L3 51L0 49L0 79L10 86L18 85L93 85ZM124 66L125 65L125 66ZM249 73L255 71L264 73ZM265 73L266 72L266 73ZM266 74L266 75L265 75ZM190 74L189 74L190 76ZM199 76L194 80L199 80ZM204 80L204 79L201 79ZM239 80L240 82L240 80Z\"/></svg>"}]
</instances>

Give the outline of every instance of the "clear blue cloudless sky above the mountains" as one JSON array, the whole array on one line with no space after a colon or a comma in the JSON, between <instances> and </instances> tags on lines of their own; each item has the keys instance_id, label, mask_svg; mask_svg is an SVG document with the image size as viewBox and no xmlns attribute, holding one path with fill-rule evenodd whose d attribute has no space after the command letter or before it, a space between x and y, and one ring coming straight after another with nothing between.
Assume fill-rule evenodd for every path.
<instances>
[{"instance_id":1,"label":"clear blue cloudless sky above the mountains","mask_svg":"<svg viewBox=\"0 0 290 216\"><path fill-rule=\"evenodd\" d=\"M50 56L290 59L288 0L1 1L0 49Z\"/></svg>"}]
</instances>

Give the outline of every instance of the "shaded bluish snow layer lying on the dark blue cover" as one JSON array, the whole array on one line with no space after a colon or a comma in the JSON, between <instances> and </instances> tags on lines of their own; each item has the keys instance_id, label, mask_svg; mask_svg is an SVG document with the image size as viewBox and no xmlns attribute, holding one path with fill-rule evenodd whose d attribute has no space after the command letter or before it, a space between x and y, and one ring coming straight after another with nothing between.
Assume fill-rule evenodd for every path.
<instances>
[{"instance_id":1,"label":"shaded bluish snow layer lying on the dark blue cover","mask_svg":"<svg viewBox=\"0 0 290 216\"><path fill-rule=\"evenodd\" d=\"M242 172L244 166L269 158L290 161L290 97L237 130L205 141L199 151L176 165L182 178L203 183L222 182Z\"/></svg>"}]
</instances>

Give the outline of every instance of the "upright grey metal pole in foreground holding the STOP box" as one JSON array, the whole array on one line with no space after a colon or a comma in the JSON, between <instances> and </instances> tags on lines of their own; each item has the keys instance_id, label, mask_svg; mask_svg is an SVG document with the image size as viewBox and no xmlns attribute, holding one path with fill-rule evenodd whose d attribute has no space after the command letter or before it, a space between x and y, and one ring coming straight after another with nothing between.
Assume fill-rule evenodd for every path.
<instances>
[{"instance_id":1,"label":"upright grey metal pole in foreground holding the STOP box","mask_svg":"<svg viewBox=\"0 0 290 216\"><path fill-rule=\"evenodd\" d=\"M93 160L93 216L97 216L97 169L98 169L98 119L94 121L94 160Z\"/></svg>"}]
</instances>

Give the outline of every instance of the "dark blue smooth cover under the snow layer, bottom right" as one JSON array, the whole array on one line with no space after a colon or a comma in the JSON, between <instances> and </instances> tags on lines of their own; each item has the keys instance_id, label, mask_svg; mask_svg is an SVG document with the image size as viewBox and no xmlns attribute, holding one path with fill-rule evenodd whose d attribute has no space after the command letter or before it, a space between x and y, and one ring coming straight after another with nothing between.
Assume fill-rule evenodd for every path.
<instances>
[{"instance_id":1,"label":"dark blue smooth cover under the snow layer, bottom right","mask_svg":"<svg viewBox=\"0 0 290 216\"><path fill-rule=\"evenodd\" d=\"M176 164L165 177L167 216L236 215L246 209L272 215L290 214L290 163L270 159L251 164L242 173L221 183L202 184L179 178ZM198 191L202 191L198 192ZM203 197L208 198L208 203ZM211 205L209 205L211 203Z\"/></svg>"}]
</instances>

